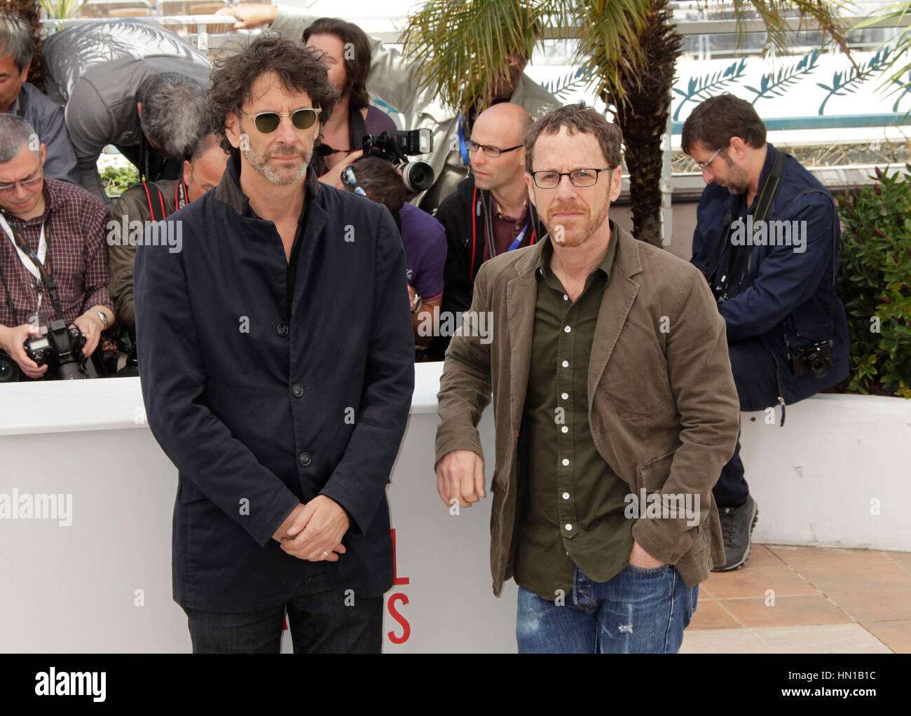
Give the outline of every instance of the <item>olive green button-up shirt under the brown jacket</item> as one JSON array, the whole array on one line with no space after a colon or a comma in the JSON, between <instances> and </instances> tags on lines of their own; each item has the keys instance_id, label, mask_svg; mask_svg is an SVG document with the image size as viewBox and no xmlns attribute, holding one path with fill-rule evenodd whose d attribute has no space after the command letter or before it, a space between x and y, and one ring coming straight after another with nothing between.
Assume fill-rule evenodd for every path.
<instances>
[{"instance_id":1,"label":"olive green button-up shirt under the brown jacket","mask_svg":"<svg viewBox=\"0 0 911 716\"><path fill-rule=\"evenodd\" d=\"M617 255L617 228L604 261L575 302L550 269L553 245L537 264L537 303L528 388L518 446L519 506L514 578L554 600L569 593L574 568L606 582L630 564L629 486L599 455L589 426L589 353ZM630 376L633 379L633 376Z\"/></svg>"}]
</instances>

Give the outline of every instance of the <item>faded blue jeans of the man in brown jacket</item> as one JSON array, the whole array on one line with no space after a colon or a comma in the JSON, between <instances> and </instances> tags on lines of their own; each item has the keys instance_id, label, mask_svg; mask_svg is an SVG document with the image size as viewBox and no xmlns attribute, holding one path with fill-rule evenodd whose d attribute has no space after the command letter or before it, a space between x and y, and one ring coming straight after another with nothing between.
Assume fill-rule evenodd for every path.
<instances>
[{"instance_id":1,"label":"faded blue jeans of the man in brown jacket","mask_svg":"<svg viewBox=\"0 0 911 716\"><path fill-rule=\"evenodd\" d=\"M518 588L518 650L675 654L696 611L698 594L699 587L687 587L671 565L630 566L607 582L594 582L576 568L563 606Z\"/></svg>"}]
</instances>

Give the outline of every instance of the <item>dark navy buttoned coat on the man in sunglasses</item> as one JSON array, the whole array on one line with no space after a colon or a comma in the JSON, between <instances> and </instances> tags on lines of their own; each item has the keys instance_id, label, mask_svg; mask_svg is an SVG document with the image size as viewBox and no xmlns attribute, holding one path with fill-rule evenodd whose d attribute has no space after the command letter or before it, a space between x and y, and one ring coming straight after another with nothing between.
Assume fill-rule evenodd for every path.
<instances>
[{"instance_id":1,"label":"dark navy buttoned coat on the man in sunglasses","mask_svg":"<svg viewBox=\"0 0 911 716\"><path fill-rule=\"evenodd\" d=\"M331 497L352 524L329 578L393 583L385 486L415 384L402 240L380 204L317 182L291 310L271 221L251 218L231 159L220 185L169 216L182 251L138 247L139 374L148 425L177 466L174 599L247 611L286 602L306 563L271 536ZM148 231L147 231L148 237Z\"/></svg>"}]
</instances>

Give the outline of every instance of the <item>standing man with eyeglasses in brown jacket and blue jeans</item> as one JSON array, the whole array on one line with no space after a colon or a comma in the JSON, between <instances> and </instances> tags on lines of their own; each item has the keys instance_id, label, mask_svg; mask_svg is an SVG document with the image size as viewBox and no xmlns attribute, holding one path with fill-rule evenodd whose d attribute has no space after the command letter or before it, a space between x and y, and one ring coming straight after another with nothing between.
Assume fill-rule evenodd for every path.
<instances>
[{"instance_id":1,"label":"standing man with eyeglasses in brown jacket and blue jeans","mask_svg":"<svg viewBox=\"0 0 911 716\"><path fill-rule=\"evenodd\" d=\"M711 485L739 417L724 322L699 271L609 219L620 142L581 103L528 131L548 235L481 267L440 380L447 506L486 496L476 423L493 393L491 574L496 596L519 586L522 652L675 652L724 558Z\"/></svg>"}]
</instances>

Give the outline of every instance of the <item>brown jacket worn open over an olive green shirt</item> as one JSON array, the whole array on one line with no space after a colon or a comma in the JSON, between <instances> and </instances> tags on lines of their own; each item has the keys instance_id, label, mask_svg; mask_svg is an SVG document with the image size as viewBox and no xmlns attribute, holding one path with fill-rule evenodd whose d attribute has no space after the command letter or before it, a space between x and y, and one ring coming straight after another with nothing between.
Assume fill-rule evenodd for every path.
<instances>
[{"instance_id":1,"label":"brown jacket worn open over an olive green shirt","mask_svg":"<svg viewBox=\"0 0 911 716\"><path fill-rule=\"evenodd\" d=\"M617 257L589 358L591 436L630 495L640 497L643 489L689 494L693 505L699 496L695 526L687 517L668 517L672 510L646 517L641 505L632 528L651 557L675 565L693 586L725 561L711 488L733 454L740 410L724 320L690 263L633 239L613 221L611 230ZM471 310L446 351L437 395L442 422L435 462L457 449L483 457L477 424L493 394L490 569L497 597L515 561L518 432L531 361L535 270L545 240L481 267ZM485 313L486 325L472 313Z\"/></svg>"}]
</instances>

